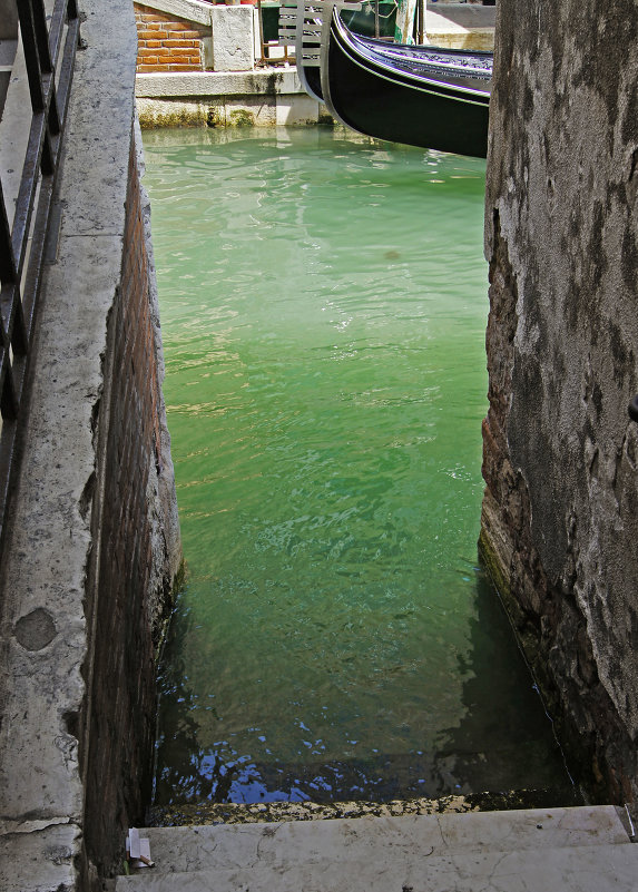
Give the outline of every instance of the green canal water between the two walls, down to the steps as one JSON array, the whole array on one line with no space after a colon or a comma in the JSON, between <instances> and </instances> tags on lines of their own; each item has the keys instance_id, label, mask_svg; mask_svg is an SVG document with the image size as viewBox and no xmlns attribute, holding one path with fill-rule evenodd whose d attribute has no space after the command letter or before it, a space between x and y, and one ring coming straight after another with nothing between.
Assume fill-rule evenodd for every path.
<instances>
[{"instance_id":1,"label":"green canal water between the two walls, down to the steps","mask_svg":"<svg viewBox=\"0 0 638 892\"><path fill-rule=\"evenodd\" d=\"M187 586L156 802L567 775L477 562L484 163L145 137Z\"/></svg>"}]
</instances>

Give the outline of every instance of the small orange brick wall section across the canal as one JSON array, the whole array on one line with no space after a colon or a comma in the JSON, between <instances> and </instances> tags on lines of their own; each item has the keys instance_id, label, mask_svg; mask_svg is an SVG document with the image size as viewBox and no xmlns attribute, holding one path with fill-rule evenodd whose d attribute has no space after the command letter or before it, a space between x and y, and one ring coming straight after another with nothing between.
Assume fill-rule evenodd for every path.
<instances>
[{"instance_id":1,"label":"small orange brick wall section across the canal","mask_svg":"<svg viewBox=\"0 0 638 892\"><path fill-rule=\"evenodd\" d=\"M202 41L210 29L167 12L134 4L137 23L137 71L200 71L204 68Z\"/></svg>"}]
</instances>

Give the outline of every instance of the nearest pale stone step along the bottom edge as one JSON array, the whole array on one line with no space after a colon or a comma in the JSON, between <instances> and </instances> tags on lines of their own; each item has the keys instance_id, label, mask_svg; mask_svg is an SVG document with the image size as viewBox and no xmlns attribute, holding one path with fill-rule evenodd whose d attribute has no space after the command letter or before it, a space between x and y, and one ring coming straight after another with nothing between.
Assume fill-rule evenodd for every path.
<instances>
[{"instance_id":1,"label":"nearest pale stone step along the bottom edge","mask_svg":"<svg viewBox=\"0 0 638 892\"><path fill-rule=\"evenodd\" d=\"M390 859L119 878L116 892L636 892L637 845L523 851L468 850L450 855L395 852Z\"/></svg>"}]
</instances>

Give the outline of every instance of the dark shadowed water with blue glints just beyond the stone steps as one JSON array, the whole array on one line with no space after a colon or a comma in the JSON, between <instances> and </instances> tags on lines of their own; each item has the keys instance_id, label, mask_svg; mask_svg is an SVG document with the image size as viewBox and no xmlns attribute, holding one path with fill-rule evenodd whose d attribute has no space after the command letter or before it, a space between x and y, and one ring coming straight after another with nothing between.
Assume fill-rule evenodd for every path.
<instances>
[{"instance_id":1,"label":"dark shadowed water with blue glints just beyond the stone steps","mask_svg":"<svg viewBox=\"0 0 638 892\"><path fill-rule=\"evenodd\" d=\"M267 748L271 758L255 761L226 741L204 749L199 743L198 697L185 682L184 660L177 658L165 665L163 675L165 706L168 702L169 708L165 710L159 742L161 770L156 801L383 802L522 787L552 790L554 794L562 791L569 801L569 777L549 734L548 719L521 666L501 607L489 584L479 571L474 572L477 615L470 621L470 661L459 655L459 673L467 678L458 704L462 718L458 725L441 728L431 749L385 752L381 736L373 737L379 745L362 757L331 761L321 757L325 752L321 742L320 752L297 752L292 761L279 758ZM192 630L188 611L178 610L173 629L175 654L183 650ZM479 675L472 666L480 667ZM205 708L215 721L222 721L214 705ZM383 717L392 712L392 704L380 704L377 708ZM342 716L342 721L347 723L349 716ZM310 731L301 719L298 727Z\"/></svg>"}]
</instances>

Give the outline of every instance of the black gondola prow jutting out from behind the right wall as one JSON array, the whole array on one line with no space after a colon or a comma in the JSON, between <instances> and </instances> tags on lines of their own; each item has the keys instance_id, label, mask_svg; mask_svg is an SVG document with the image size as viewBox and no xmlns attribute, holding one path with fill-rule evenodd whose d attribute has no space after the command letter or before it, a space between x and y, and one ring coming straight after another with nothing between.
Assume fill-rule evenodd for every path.
<instances>
[{"instance_id":1,"label":"black gondola prow jutting out from behind the right wall","mask_svg":"<svg viewBox=\"0 0 638 892\"><path fill-rule=\"evenodd\" d=\"M333 117L379 139L485 157L491 52L387 43L352 33L331 3L304 10L297 70Z\"/></svg>"}]
</instances>

